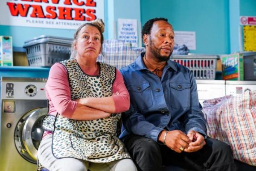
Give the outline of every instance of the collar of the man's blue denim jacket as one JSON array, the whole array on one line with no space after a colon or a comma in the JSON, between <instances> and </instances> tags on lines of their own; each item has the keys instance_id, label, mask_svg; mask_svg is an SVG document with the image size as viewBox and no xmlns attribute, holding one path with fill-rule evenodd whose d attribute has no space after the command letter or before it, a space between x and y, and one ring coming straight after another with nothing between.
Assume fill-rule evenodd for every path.
<instances>
[{"instance_id":1,"label":"collar of the man's blue denim jacket","mask_svg":"<svg viewBox=\"0 0 256 171\"><path fill-rule=\"evenodd\" d=\"M148 68L145 66L144 62L143 62L143 56L145 55L145 52L141 53L137 59L135 60L134 62L134 67L135 67L135 70L148 70ZM166 62L166 66L165 67L168 67L168 68L172 68L173 70L177 71L177 67L175 65L175 63L172 61L172 60L168 60Z\"/></svg>"}]
</instances>

